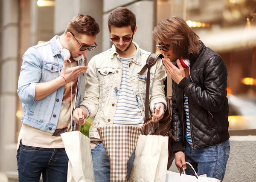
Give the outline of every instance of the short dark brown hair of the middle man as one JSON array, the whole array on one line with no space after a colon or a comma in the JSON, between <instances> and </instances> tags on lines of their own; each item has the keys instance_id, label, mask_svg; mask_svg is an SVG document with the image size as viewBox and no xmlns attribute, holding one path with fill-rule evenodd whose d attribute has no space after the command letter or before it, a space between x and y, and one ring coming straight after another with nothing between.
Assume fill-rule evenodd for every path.
<instances>
[{"instance_id":1,"label":"short dark brown hair of the middle man","mask_svg":"<svg viewBox=\"0 0 256 182\"><path fill-rule=\"evenodd\" d=\"M111 26L118 28L131 26L131 30L134 32L136 27L136 15L127 8L116 8L108 15L109 31L111 31Z\"/></svg>"}]
</instances>

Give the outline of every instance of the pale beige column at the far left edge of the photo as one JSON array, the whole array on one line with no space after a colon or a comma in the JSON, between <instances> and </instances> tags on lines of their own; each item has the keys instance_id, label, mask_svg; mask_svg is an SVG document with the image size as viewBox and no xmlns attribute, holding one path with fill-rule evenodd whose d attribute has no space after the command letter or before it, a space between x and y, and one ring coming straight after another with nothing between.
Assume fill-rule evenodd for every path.
<instances>
[{"instance_id":1,"label":"pale beige column at the far left edge of the photo","mask_svg":"<svg viewBox=\"0 0 256 182\"><path fill-rule=\"evenodd\" d=\"M0 57L0 171L16 171L16 101L19 1L2 0Z\"/></svg>"}]
</instances>

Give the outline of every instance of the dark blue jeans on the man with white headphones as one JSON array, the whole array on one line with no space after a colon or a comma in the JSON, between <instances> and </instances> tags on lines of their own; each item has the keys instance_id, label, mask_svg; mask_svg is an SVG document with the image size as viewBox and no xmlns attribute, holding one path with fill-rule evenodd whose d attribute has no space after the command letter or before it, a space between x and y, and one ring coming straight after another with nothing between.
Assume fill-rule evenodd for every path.
<instances>
[{"instance_id":1,"label":"dark blue jeans on the man with white headphones","mask_svg":"<svg viewBox=\"0 0 256 182\"><path fill-rule=\"evenodd\" d=\"M67 182L68 157L64 148L22 145L17 152L19 182Z\"/></svg>"}]
</instances>

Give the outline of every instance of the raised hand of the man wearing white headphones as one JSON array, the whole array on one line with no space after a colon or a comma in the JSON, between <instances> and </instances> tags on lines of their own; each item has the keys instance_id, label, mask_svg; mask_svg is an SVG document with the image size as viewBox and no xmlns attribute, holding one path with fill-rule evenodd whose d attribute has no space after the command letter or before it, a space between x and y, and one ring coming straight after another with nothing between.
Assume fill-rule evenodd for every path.
<instances>
[{"instance_id":1,"label":"raised hand of the man wearing white headphones","mask_svg":"<svg viewBox=\"0 0 256 182\"><path fill-rule=\"evenodd\" d=\"M67 60L64 60L63 67L61 69L61 76L68 82L71 82L78 78L84 71L87 70L87 66L76 66L73 68L67 68Z\"/></svg>"}]
</instances>

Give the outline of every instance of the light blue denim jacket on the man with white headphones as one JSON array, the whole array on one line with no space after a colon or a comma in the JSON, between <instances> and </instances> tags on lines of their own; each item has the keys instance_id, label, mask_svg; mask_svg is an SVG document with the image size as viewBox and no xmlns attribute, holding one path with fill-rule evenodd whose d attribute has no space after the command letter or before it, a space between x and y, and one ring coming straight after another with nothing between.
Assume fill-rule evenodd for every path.
<instances>
[{"instance_id":1,"label":"light blue denim jacket on the man with white headphones","mask_svg":"<svg viewBox=\"0 0 256 182\"><path fill-rule=\"evenodd\" d=\"M35 100L35 86L37 83L54 80L61 74L63 58L56 42L58 37L55 36L49 42L33 46L25 52L17 89L23 107L21 121L49 133L54 133L56 129L64 86L41 100ZM79 61L79 65L84 65L84 59ZM84 78L85 73L79 77L77 93L79 99L75 107L80 103L81 85Z\"/></svg>"}]
</instances>

